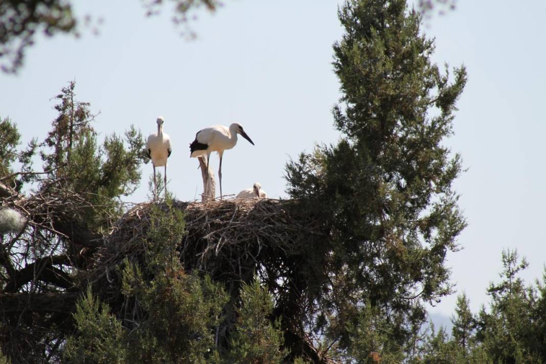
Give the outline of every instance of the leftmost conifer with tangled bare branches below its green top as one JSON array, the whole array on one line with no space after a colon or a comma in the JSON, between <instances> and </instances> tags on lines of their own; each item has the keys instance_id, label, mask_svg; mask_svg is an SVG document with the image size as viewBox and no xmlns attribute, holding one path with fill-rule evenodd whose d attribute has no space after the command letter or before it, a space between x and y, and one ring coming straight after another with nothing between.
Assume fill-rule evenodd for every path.
<instances>
[{"instance_id":1,"label":"leftmost conifer with tangled bare branches below its green top","mask_svg":"<svg viewBox=\"0 0 546 364\"><path fill-rule=\"evenodd\" d=\"M14 363L60 360L80 289L76 272L121 216L119 197L136 187L144 160L144 140L134 128L123 139L112 134L99 144L90 105L76 100L74 82L57 100L51 132L24 150L17 150L15 123L0 123L8 141L0 149L0 196L28 219L20 233L0 236L0 342ZM38 148L43 170L31 163Z\"/></svg>"}]
</instances>

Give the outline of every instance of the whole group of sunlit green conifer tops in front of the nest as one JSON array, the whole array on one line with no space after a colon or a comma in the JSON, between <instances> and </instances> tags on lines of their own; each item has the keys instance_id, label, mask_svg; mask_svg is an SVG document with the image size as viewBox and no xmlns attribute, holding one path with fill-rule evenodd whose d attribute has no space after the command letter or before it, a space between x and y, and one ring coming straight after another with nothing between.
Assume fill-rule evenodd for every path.
<instances>
[{"instance_id":1,"label":"whole group of sunlit green conifer tops in front of the nest","mask_svg":"<svg viewBox=\"0 0 546 364\"><path fill-rule=\"evenodd\" d=\"M281 363L287 354L281 349L282 331L278 321L270 321L272 296L257 278L242 285L229 350L219 350L228 295L208 276L181 266L176 243L185 234L185 222L172 203L168 198L164 209L152 207L143 263L124 260L122 293L133 304L134 321L116 319L89 290L74 314L77 330L65 358L77 363Z\"/></svg>"}]
</instances>

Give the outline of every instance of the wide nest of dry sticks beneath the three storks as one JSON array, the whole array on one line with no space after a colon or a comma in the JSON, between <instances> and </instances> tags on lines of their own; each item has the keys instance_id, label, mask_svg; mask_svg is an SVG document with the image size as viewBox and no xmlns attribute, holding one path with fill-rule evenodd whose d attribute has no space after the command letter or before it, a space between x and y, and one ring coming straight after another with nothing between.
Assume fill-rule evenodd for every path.
<instances>
[{"instance_id":1,"label":"wide nest of dry sticks beneath the three storks","mask_svg":"<svg viewBox=\"0 0 546 364\"><path fill-rule=\"evenodd\" d=\"M178 247L181 261L188 270L213 276L240 275L239 262L253 261L258 266L279 254L297 254L299 243L318 235L318 230L312 221L294 217L292 203L271 199L174 201L173 207L185 213L187 229ZM93 256L93 281L109 275L124 258L138 260L146 248L143 243L150 226L151 204L136 205L114 225L106 245ZM226 270L225 264L231 262Z\"/></svg>"}]
</instances>

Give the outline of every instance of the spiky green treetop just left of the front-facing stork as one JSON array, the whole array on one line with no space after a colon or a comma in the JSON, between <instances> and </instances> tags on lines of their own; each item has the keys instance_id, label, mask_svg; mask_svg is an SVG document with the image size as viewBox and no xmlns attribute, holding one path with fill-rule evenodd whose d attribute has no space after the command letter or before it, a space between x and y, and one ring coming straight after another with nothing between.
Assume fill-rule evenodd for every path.
<instances>
[{"instance_id":1,"label":"spiky green treetop just left of the front-facing stork","mask_svg":"<svg viewBox=\"0 0 546 364\"><path fill-rule=\"evenodd\" d=\"M147 163L144 138L130 126L124 138L111 134L99 144L90 104L76 100L75 87L69 82L56 97L58 116L39 144L40 157L50 180L63 181L63 187L85 200L87 208L79 209L82 219L105 227L122 212L119 198L138 187L140 165Z\"/></svg>"}]
</instances>

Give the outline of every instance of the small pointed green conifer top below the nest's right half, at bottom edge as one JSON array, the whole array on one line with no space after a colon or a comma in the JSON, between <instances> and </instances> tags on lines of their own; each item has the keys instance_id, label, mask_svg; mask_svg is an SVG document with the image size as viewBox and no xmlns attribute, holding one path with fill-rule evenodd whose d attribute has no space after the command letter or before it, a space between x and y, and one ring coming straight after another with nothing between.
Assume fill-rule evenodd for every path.
<instances>
[{"instance_id":1,"label":"small pointed green conifer top below the nest's right half, at bottom edge","mask_svg":"<svg viewBox=\"0 0 546 364\"><path fill-rule=\"evenodd\" d=\"M252 283L242 285L240 296L241 306L230 339L232 349L225 363L282 363L287 353L281 350L280 323L277 320L271 324L270 321L273 311L271 295L254 277Z\"/></svg>"}]
</instances>

